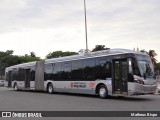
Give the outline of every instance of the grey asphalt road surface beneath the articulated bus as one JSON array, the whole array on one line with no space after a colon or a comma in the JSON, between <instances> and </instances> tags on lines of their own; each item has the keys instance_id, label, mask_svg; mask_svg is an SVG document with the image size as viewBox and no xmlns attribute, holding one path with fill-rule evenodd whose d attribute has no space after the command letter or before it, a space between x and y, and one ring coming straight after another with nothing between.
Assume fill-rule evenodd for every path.
<instances>
[{"instance_id":1,"label":"grey asphalt road surface beneath the articulated bus","mask_svg":"<svg viewBox=\"0 0 160 120\"><path fill-rule=\"evenodd\" d=\"M160 111L160 95L100 99L92 95L48 94L45 92L14 91L0 87L0 111ZM75 118L63 119L74 120ZM93 120L89 117L86 119ZM107 118L99 118L98 120L101 119L106 120ZM110 118L110 120L112 119L120 118ZM123 120L127 119L123 118ZM145 119L150 120L151 118Z\"/></svg>"}]
</instances>

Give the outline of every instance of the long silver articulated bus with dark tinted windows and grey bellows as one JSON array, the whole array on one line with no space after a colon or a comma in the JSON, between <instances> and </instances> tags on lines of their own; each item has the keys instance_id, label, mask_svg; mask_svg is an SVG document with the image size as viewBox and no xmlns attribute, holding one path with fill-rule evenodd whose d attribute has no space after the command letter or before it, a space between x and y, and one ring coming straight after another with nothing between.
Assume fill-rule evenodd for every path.
<instances>
[{"instance_id":1,"label":"long silver articulated bus with dark tinted windows and grey bellows","mask_svg":"<svg viewBox=\"0 0 160 120\"><path fill-rule=\"evenodd\" d=\"M147 54L110 49L6 68L6 87L108 96L154 94L157 81Z\"/></svg>"}]
</instances>

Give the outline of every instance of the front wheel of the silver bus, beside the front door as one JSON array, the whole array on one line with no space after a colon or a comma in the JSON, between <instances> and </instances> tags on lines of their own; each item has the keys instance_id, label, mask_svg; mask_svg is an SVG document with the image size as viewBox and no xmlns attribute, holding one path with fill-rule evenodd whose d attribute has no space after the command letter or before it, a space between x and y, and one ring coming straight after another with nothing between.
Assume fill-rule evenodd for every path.
<instances>
[{"instance_id":1,"label":"front wheel of the silver bus, beside the front door","mask_svg":"<svg viewBox=\"0 0 160 120\"><path fill-rule=\"evenodd\" d=\"M101 85L98 89L98 95L100 98L105 99L108 97L108 90L105 85Z\"/></svg>"}]
</instances>

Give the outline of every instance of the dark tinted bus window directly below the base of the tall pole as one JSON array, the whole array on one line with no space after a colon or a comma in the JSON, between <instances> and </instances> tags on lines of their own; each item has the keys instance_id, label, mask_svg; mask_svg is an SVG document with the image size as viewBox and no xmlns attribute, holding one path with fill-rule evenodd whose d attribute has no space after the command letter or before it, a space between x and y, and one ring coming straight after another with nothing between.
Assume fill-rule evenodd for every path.
<instances>
[{"instance_id":1,"label":"dark tinted bus window directly below the base of the tall pole","mask_svg":"<svg viewBox=\"0 0 160 120\"><path fill-rule=\"evenodd\" d=\"M83 60L84 79L85 80L93 80L94 79L94 67L95 67L95 59Z\"/></svg>"}]
</instances>

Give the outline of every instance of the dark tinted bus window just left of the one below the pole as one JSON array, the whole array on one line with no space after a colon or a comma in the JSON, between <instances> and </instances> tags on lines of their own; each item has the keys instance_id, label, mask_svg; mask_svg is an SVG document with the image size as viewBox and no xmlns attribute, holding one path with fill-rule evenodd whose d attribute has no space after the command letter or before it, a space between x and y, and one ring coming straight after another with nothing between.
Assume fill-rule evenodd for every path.
<instances>
[{"instance_id":1,"label":"dark tinted bus window just left of the one below the pole","mask_svg":"<svg viewBox=\"0 0 160 120\"><path fill-rule=\"evenodd\" d=\"M83 65L82 60L72 61L72 79L83 79Z\"/></svg>"}]
</instances>

